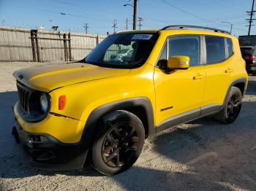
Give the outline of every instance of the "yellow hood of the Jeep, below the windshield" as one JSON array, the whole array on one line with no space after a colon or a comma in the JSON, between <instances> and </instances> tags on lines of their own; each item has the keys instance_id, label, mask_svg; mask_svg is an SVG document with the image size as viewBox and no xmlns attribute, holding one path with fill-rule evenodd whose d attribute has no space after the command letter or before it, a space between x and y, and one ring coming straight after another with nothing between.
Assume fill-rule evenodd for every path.
<instances>
[{"instance_id":1,"label":"yellow hood of the Jeep, below the windshield","mask_svg":"<svg viewBox=\"0 0 256 191\"><path fill-rule=\"evenodd\" d=\"M80 82L129 74L130 69L110 69L86 63L52 64L15 71L13 76L35 90L49 92Z\"/></svg>"}]
</instances>

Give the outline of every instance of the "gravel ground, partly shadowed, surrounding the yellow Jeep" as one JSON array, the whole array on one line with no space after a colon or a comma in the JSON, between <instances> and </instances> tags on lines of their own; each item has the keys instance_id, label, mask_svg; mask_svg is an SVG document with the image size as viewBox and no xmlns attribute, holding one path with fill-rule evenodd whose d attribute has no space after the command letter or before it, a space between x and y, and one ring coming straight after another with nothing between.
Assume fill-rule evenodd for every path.
<instances>
[{"instance_id":1,"label":"gravel ground, partly shadowed, surrounding the yellow Jeep","mask_svg":"<svg viewBox=\"0 0 256 191\"><path fill-rule=\"evenodd\" d=\"M255 190L256 77L238 120L211 117L165 130L146 140L138 161L122 174L40 171L27 165L11 135L18 99L12 72L50 63L0 63L0 190Z\"/></svg>"}]
</instances>

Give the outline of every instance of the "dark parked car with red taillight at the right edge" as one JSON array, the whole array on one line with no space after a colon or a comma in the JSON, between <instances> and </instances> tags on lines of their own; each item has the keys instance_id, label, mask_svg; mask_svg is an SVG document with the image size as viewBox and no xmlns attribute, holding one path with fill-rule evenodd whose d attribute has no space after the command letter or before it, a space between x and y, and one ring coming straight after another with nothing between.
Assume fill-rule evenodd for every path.
<instances>
[{"instance_id":1,"label":"dark parked car with red taillight at the right edge","mask_svg":"<svg viewBox=\"0 0 256 191\"><path fill-rule=\"evenodd\" d=\"M248 74L256 76L256 46L240 47Z\"/></svg>"}]
</instances>

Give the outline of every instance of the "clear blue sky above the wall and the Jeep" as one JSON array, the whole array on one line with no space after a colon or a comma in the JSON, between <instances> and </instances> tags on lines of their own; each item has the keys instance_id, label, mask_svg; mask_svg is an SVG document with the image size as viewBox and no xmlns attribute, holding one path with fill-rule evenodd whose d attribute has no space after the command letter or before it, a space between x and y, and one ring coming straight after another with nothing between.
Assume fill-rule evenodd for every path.
<instances>
[{"instance_id":1,"label":"clear blue sky above the wall and the Jeep","mask_svg":"<svg viewBox=\"0 0 256 191\"><path fill-rule=\"evenodd\" d=\"M133 0L0 0L0 26L49 29L53 24L60 31L85 31L83 26L88 23L90 34L111 34L115 19L117 31L125 30L127 18L132 29L133 7L123 6L132 3ZM233 34L246 35L246 11L251 9L252 0L138 0L142 29L196 25L230 31L232 23ZM256 26L252 26L251 34L256 34Z\"/></svg>"}]
</instances>

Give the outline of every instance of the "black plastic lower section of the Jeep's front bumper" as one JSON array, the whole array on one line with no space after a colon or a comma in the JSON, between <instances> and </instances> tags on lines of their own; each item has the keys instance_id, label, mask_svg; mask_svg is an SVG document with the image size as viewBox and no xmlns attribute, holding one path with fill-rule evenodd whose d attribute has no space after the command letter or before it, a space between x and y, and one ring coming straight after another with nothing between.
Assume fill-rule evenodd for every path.
<instances>
[{"instance_id":1,"label":"black plastic lower section of the Jeep's front bumper","mask_svg":"<svg viewBox=\"0 0 256 191\"><path fill-rule=\"evenodd\" d=\"M82 170L88 149L82 143L64 144L53 136L28 133L17 121L12 135L30 158L30 165L45 170Z\"/></svg>"}]
</instances>

